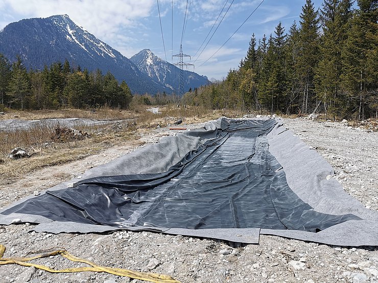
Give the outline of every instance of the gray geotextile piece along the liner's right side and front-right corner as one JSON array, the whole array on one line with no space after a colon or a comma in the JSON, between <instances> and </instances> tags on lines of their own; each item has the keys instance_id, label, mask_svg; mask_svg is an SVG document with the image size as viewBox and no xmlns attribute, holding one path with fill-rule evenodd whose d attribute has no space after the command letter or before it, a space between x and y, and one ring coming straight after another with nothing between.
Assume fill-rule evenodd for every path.
<instances>
[{"instance_id":1,"label":"gray geotextile piece along the liner's right side and front-right corner","mask_svg":"<svg viewBox=\"0 0 378 283\"><path fill-rule=\"evenodd\" d=\"M326 214L353 214L363 220L346 221L318 233L261 229L261 234L340 246L377 246L378 212L366 209L333 178L333 168L282 124L268 134L269 150L286 173L288 185L314 210Z\"/></svg>"}]
</instances>

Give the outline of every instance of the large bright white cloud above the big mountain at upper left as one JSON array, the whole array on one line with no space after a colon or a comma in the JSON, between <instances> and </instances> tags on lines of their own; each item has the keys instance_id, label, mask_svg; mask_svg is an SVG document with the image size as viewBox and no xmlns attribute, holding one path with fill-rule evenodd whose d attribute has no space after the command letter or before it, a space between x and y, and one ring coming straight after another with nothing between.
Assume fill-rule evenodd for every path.
<instances>
[{"instance_id":1,"label":"large bright white cloud above the big mountain at upper left","mask_svg":"<svg viewBox=\"0 0 378 283\"><path fill-rule=\"evenodd\" d=\"M153 0L0 0L0 7L21 18L68 14L79 25L102 40L121 28L132 28L136 20L150 16Z\"/></svg>"}]
</instances>

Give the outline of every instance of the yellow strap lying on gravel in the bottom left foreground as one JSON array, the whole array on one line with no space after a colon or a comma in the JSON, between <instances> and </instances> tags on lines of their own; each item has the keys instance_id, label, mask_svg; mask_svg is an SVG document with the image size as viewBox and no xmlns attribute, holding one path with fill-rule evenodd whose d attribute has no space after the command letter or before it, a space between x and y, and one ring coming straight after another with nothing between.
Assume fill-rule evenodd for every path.
<instances>
[{"instance_id":1,"label":"yellow strap lying on gravel in the bottom left foreground","mask_svg":"<svg viewBox=\"0 0 378 283\"><path fill-rule=\"evenodd\" d=\"M5 250L6 250L5 246L0 244L0 265L18 264L21 266L34 266L35 268L48 271L51 273L82 272L82 271L107 272L107 273L118 275L118 276L127 276L133 279L145 280L145 281L150 281L150 282L155 282L155 283L180 283L180 281L177 281L176 279L172 278L169 275L150 273L150 272L139 272L139 271L133 271L133 270L123 269L123 268L99 266L88 260L77 258L76 256L70 254L66 250L55 250L49 253L43 253L36 256L32 256L31 258L7 258L7 259L3 258ZM44 265L29 263L29 261L32 261L32 260L47 258L48 256L55 256L59 254L72 262L85 263L85 264L90 265L91 267L53 269Z\"/></svg>"}]
</instances>

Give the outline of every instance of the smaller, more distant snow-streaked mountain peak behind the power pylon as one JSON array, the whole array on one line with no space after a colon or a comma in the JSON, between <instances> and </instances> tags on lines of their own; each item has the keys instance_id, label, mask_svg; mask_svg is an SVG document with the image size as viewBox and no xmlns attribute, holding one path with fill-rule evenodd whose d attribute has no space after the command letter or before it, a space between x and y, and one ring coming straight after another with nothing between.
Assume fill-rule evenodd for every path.
<instances>
[{"instance_id":1,"label":"smaller, more distant snow-streaked mountain peak behind the power pylon","mask_svg":"<svg viewBox=\"0 0 378 283\"><path fill-rule=\"evenodd\" d=\"M130 60L155 82L177 91L180 69L175 65L160 59L150 49L141 50ZM184 70L184 92L207 84L210 82L206 76Z\"/></svg>"}]
</instances>

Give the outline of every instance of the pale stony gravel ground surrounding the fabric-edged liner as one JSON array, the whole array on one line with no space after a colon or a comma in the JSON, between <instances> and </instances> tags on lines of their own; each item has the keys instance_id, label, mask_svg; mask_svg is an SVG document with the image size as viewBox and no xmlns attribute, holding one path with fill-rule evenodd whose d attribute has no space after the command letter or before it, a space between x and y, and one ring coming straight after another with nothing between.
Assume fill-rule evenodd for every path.
<instances>
[{"instance_id":1,"label":"pale stony gravel ground surrounding the fabric-edged liner","mask_svg":"<svg viewBox=\"0 0 378 283\"><path fill-rule=\"evenodd\" d=\"M314 147L335 169L345 191L367 208L378 210L378 133L346 123L284 119L285 125ZM187 125L188 128L201 126ZM159 128L141 136L146 143L174 135ZM44 168L0 189L0 207L77 176L136 147L125 144L70 164ZM54 247L97 264L169 274L181 282L378 282L377 247L320 245L261 236L259 245L170 236L150 232L102 234L30 233L31 224L0 226L5 257L25 256ZM56 256L35 263L54 268L83 266ZM51 274L33 267L6 265L0 282L140 282L106 273Z\"/></svg>"}]
</instances>

